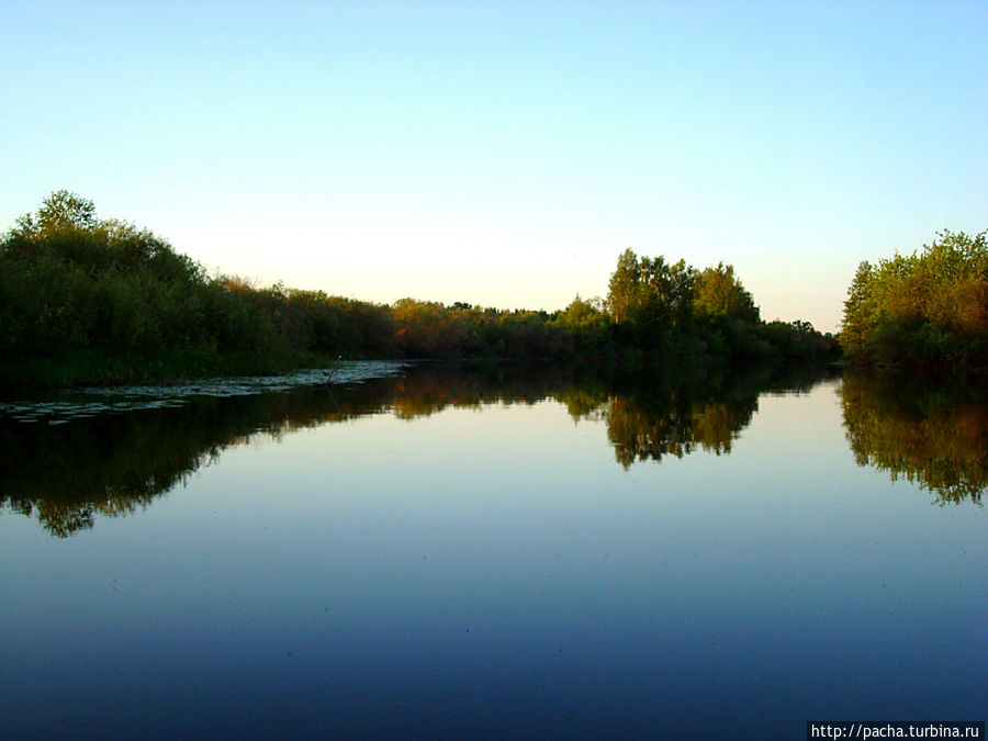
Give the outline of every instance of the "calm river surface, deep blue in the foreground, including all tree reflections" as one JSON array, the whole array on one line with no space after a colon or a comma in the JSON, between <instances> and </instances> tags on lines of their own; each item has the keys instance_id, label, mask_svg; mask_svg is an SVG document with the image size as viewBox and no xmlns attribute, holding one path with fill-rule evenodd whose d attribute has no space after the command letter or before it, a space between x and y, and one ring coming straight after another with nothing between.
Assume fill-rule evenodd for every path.
<instances>
[{"instance_id":1,"label":"calm river surface, deep blue in the foreground, including all tree reflections","mask_svg":"<svg viewBox=\"0 0 988 741\"><path fill-rule=\"evenodd\" d=\"M983 402L393 371L0 405L0 737L988 715Z\"/></svg>"}]
</instances>

